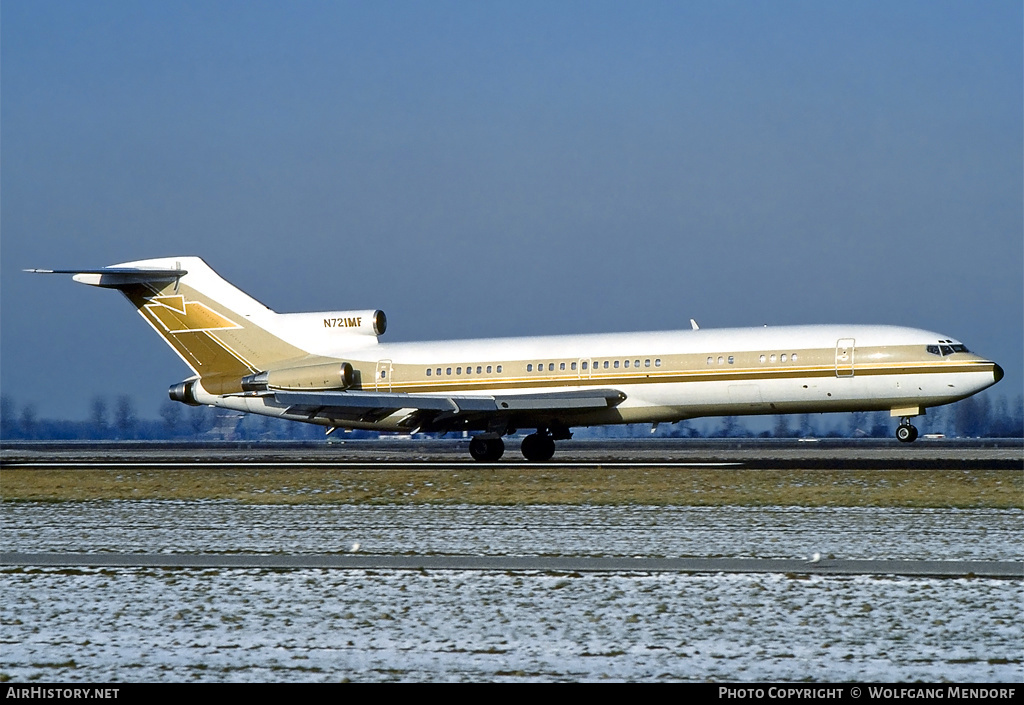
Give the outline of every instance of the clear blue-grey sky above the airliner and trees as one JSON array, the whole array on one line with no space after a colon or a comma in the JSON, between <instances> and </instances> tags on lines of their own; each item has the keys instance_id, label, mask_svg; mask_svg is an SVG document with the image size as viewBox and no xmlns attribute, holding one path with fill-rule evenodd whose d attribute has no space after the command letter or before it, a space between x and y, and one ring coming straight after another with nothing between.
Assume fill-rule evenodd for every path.
<instances>
[{"instance_id":1,"label":"clear blue-grey sky above the airliner and trees","mask_svg":"<svg viewBox=\"0 0 1024 705\"><path fill-rule=\"evenodd\" d=\"M0 387L187 368L24 267L199 255L385 340L796 323L1024 383L1019 2L0 5Z\"/></svg>"}]
</instances>

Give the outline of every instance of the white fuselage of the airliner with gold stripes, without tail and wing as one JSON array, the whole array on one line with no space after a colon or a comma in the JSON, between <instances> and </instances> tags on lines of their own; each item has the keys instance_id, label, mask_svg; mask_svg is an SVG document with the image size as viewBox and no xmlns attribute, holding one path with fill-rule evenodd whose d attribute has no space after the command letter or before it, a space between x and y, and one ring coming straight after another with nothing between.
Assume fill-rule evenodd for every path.
<instances>
[{"instance_id":1,"label":"white fuselage of the airliner with gold stripes, without tail and wing","mask_svg":"<svg viewBox=\"0 0 1024 705\"><path fill-rule=\"evenodd\" d=\"M360 341L330 350L359 388L456 397L611 388L614 408L549 414L565 425L671 422L698 416L889 411L915 416L993 384L994 363L951 351L938 333L893 326L820 325L419 343ZM938 352L930 352L929 347ZM329 352L321 350L321 355ZM197 391L204 404L288 416L266 397ZM401 410L372 422L325 425L401 430ZM542 419L543 420L543 419Z\"/></svg>"}]
</instances>

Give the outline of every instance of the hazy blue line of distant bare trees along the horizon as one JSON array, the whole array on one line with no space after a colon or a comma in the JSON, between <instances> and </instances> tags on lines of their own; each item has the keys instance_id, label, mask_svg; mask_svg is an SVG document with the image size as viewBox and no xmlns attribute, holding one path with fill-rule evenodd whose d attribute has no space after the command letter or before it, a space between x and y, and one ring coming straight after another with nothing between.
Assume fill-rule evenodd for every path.
<instances>
[{"instance_id":1,"label":"hazy blue line of distant bare trees along the horizon","mask_svg":"<svg viewBox=\"0 0 1024 705\"><path fill-rule=\"evenodd\" d=\"M765 424L770 426L764 428ZM577 438L891 438L895 419L888 412L798 414L770 417L723 416L647 425L573 429ZM929 409L915 425L922 433L958 438L1024 438L1024 395L976 395L956 404ZM131 397L113 401L96 396L84 421L40 418L32 402L17 404L0 395L0 440L29 441L284 441L324 438L324 427L270 416L213 407L188 407L166 400L159 419L142 419ZM376 433L352 431L359 437Z\"/></svg>"}]
</instances>

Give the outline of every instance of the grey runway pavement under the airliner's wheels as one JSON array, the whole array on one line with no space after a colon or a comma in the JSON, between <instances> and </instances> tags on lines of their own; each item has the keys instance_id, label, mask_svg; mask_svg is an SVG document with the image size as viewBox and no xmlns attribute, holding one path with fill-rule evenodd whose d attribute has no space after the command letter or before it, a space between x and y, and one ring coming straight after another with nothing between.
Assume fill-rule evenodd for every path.
<instances>
[{"instance_id":1,"label":"grey runway pavement under the airliner's wheels","mask_svg":"<svg viewBox=\"0 0 1024 705\"><path fill-rule=\"evenodd\" d=\"M555 457L529 463L516 439L506 440L504 457L479 463L469 456L468 439L386 438L329 442L5 442L5 467L746 467L803 469L1024 469L1020 439L590 439L562 441Z\"/></svg>"}]
</instances>

